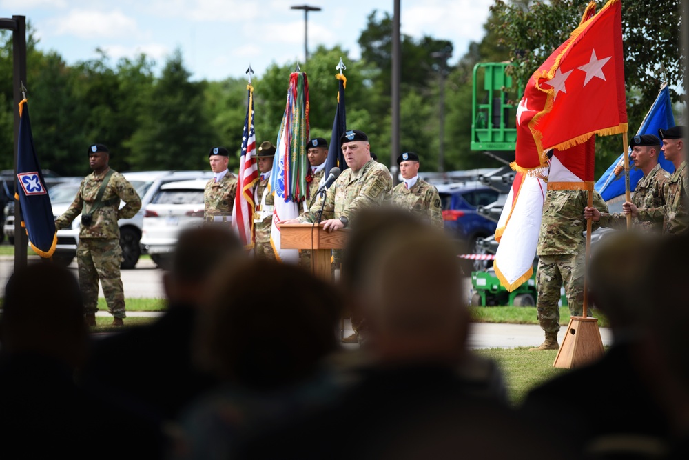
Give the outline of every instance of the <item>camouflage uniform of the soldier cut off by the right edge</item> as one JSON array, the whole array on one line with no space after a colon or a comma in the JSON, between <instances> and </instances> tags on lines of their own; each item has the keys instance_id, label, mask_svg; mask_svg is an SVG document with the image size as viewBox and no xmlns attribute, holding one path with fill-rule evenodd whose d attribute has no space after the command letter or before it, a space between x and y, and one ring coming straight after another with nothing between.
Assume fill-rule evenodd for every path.
<instances>
[{"instance_id":1,"label":"camouflage uniform of the soldier cut off by the right edge","mask_svg":"<svg viewBox=\"0 0 689 460\"><path fill-rule=\"evenodd\" d=\"M663 188L664 205L639 210L639 221L662 222L663 233L686 234L689 230L687 210L687 163L682 161Z\"/></svg>"}]
</instances>

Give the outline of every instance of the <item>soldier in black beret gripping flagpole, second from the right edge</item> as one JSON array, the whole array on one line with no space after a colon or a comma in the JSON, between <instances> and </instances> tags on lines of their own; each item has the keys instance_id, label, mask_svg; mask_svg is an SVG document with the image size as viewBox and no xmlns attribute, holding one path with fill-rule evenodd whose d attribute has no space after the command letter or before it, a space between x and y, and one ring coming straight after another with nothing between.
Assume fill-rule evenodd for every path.
<instances>
[{"instance_id":1,"label":"soldier in black beret gripping flagpole, second from the right edge","mask_svg":"<svg viewBox=\"0 0 689 460\"><path fill-rule=\"evenodd\" d=\"M660 154L660 139L653 134L637 135L629 143L632 148L630 158L634 161L635 168L644 172L643 179L637 182L632 194L632 203L638 209L659 208L664 206L663 188L670 174L660 167L658 156ZM624 213L606 214L596 208L586 208L584 218L593 217L594 222L599 222L601 227L626 228L627 219ZM639 221L634 219L635 226L644 231L662 230L660 222Z\"/></svg>"}]
</instances>

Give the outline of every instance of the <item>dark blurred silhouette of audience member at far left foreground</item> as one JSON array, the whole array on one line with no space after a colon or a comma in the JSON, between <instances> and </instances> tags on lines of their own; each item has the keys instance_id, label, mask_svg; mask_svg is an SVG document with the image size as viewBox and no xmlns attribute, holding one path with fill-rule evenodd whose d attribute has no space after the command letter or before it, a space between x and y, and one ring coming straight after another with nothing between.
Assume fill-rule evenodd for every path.
<instances>
[{"instance_id":1,"label":"dark blurred silhouette of audience member at far left foreground","mask_svg":"<svg viewBox=\"0 0 689 460\"><path fill-rule=\"evenodd\" d=\"M10 277L0 322L0 458L161 457L154 421L74 383L86 354L83 314L69 270L38 263Z\"/></svg>"}]
</instances>

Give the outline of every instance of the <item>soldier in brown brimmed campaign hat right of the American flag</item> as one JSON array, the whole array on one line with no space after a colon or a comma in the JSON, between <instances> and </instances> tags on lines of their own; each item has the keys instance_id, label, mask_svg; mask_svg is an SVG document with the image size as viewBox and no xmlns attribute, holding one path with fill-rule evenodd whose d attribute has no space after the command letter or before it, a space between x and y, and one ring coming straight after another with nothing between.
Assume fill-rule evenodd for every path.
<instances>
[{"instance_id":1,"label":"soldier in brown brimmed campaign hat right of the American flag","mask_svg":"<svg viewBox=\"0 0 689 460\"><path fill-rule=\"evenodd\" d=\"M254 254L258 259L275 259L275 251L270 243L270 228L273 221L273 194L268 191L268 179L273 169L275 158L275 146L269 141L264 141L256 152L258 161L258 184L254 191L256 200L256 212L254 212L254 230L256 231L256 246Z\"/></svg>"}]
</instances>

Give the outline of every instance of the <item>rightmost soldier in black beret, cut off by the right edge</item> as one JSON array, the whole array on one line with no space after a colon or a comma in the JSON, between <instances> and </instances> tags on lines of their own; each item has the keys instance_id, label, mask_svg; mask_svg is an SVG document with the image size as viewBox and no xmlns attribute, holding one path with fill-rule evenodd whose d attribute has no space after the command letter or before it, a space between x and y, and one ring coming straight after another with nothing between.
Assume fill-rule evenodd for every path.
<instances>
[{"instance_id":1,"label":"rightmost soldier in black beret, cut off by the right edge","mask_svg":"<svg viewBox=\"0 0 689 460\"><path fill-rule=\"evenodd\" d=\"M632 214L639 221L657 222L663 224L663 233L689 233L689 212L687 209L687 163L684 148L684 127L674 126L667 130L658 130L663 141L661 150L665 158L675 165L675 172L665 183L663 188L664 204L657 208L639 209L635 203L626 201L622 205L625 214Z\"/></svg>"}]
</instances>

